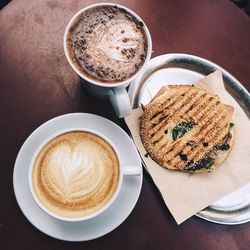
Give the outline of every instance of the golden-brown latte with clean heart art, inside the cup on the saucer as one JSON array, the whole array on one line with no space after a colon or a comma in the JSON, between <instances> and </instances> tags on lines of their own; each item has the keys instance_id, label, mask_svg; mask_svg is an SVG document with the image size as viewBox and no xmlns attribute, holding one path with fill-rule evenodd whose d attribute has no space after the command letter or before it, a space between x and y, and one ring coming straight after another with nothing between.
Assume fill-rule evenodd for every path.
<instances>
[{"instance_id":1,"label":"golden-brown latte with clean heart art, inside the cup on the saucer","mask_svg":"<svg viewBox=\"0 0 250 250\"><path fill-rule=\"evenodd\" d=\"M36 157L32 186L40 203L53 213L79 218L97 212L114 196L119 160L96 134L71 131L48 142Z\"/></svg>"}]
</instances>

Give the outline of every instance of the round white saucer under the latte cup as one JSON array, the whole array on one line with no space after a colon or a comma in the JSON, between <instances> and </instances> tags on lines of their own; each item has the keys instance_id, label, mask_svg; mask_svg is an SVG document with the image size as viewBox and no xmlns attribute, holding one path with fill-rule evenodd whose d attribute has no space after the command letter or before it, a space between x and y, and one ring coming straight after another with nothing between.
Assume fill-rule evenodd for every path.
<instances>
[{"instance_id":1,"label":"round white saucer under the latte cup","mask_svg":"<svg viewBox=\"0 0 250 250\"><path fill-rule=\"evenodd\" d=\"M141 191L142 174L124 177L120 194L104 213L83 222L63 222L44 213L34 202L28 187L28 168L36 148L48 136L67 128L94 129L107 136L118 148L126 165L141 167L130 137L115 123L92 114L73 113L56 117L37 128L24 142L14 168L14 192L23 214L43 233L66 241L86 241L103 236L118 227L132 212ZM142 171L142 168L141 168Z\"/></svg>"}]
</instances>

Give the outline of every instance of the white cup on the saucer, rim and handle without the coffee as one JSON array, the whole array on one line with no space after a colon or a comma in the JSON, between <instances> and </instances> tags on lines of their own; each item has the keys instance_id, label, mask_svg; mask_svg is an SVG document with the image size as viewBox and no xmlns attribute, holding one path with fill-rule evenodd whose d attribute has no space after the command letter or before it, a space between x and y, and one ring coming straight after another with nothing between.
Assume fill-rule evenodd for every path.
<instances>
[{"instance_id":1,"label":"white cup on the saucer, rim and handle without the coffee","mask_svg":"<svg viewBox=\"0 0 250 250\"><path fill-rule=\"evenodd\" d=\"M108 201L108 203L106 203L106 205L102 206L96 212L93 212L93 213L91 213L89 215L86 215L86 216L77 217L77 218L64 217L64 216L58 215L55 212L49 210L45 205L43 205L41 203L41 201L37 197L36 192L35 192L34 187L33 187L33 181L32 181L33 180L32 172L33 172L33 167L34 167L35 160L36 160L37 156L39 155L40 151L44 148L44 146L47 143L49 143L51 140L56 138L57 136L62 135L64 133L73 132L73 131L89 132L89 133L92 133L92 134L97 135L97 136L101 137L102 139L104 139L113 148L113 150L115 151L115 154L116 154L118 162L119 162L119 172L120 172L119 181L118 181L118 185L116 187L116 191L114 192L112 198ZM114 143L111 140L109 140L106 136L101 134L100 132L97 132L97 131L92 130L92 129L85 129L85 128L70 128L70 129L65 129L65 130L62 130L62 131L60 131L58 133L55 133L55 134L51 135L50 137L45 139L42 142L42 144L37 148L37 150L35 151L32 159L31 159L31 162L30 162L29 176L28 176L29 180L28 181L29 181L29 189L30 189L30 192L31 192L31 195L32 195L34 201L40 207L40 209L43 210L46 214L50 215L53 218L62 220L62 221L80 222L80 221L88 220L88 219L91 219L91 218L94 218L94 217L98 216L99 214L106 211L115 202L117 196L120 193L124 176L138 176L138 175L141 175L141 174L142 174L142 172L141 172L141 167L140 166L125 166L124 165L124 163L121 161L120 153L119 153L118 149L116 148L116 146L114 145Z\"/></svg>"}]
</instances>

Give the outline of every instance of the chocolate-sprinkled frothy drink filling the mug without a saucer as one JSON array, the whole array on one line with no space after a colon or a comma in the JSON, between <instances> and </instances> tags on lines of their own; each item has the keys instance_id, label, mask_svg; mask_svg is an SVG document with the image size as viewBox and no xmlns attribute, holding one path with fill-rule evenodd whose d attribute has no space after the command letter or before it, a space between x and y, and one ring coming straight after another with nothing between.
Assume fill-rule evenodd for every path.
<instances>
[{"instance_id":1,"label":"chocolate-sprinkled frothy drink filling the mug without a saucer","mask_svg":"<svg viewBox=\"0 0 250 250\"><path fill-rule=\"evenodd\" d=\"M118 6L85 10L68 30L67 51L82 74L101 83L131 78L147 57L144 24Z\"/></svg>"}]
</instances>

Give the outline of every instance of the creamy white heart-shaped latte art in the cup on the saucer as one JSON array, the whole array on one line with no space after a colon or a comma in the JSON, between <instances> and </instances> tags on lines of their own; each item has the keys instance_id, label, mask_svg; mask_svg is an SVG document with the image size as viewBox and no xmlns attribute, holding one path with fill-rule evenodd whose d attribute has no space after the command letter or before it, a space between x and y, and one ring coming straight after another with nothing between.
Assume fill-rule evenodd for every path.
<instances>
[{"instance_id":1,"label":"creamy white heart-shaped latte art in the cup on the saucer","mask_svg":"<svg viewBox=\"0 0 250 250\"><path fill-rule=\"evenodd\" d=\"M85 145L60 145L51 153L47 178L57 195L72 201L93 192L105 176L100 157Z\"/></svg>"}]
</instances>

